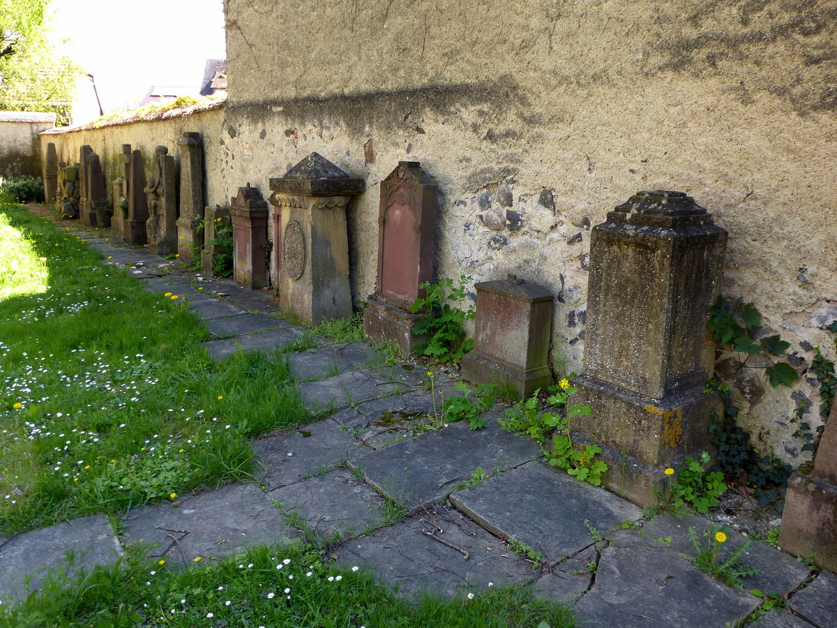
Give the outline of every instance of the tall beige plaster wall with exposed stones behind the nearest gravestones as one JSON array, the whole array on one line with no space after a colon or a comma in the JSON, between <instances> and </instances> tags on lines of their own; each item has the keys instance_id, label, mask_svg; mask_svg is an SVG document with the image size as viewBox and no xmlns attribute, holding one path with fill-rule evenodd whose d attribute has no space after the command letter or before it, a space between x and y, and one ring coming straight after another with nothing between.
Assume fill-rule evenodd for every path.
<instances>
[{"instance_id":1,"label":"tall beige plaster wall with exposed stones behind the nearest gravestones","mask_svg":"<svg viewBox=\"0 0 837 628\"><path fill-rule=\"evenodd\" d=\"M311 151L350 209L355 299L375 286L378 183L439 183L439 275L514 272L556 295L553 356L580 370L591 224L677 189L729 230L723 292L754 301L804 369L834 344L837 2L227 0L229 196ZM808 374L810 378L810 374ZM798 460L794 401L743 369L763 449ZM794 395L812 401L804 380ZM809 415L810 415L809 414ZM814 420L814 424L816 424Z\"/></svg>"}]
</instances>

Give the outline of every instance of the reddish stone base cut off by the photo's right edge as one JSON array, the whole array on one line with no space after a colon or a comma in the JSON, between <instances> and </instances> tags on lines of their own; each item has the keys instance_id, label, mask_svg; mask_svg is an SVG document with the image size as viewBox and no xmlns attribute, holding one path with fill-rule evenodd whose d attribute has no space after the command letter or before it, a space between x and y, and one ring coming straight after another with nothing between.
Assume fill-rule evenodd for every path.
<instances>
[{"instance_id":1,"label":"reddish stone base cut off by the photo's right edge","mask_svg":"<svg viewBox=\"0 0 837 628\"><path fill-rule=\"evenodd\" d=\"M814 564L837 572L837 486L794 471L778 543L797 556L814 554Z\"/></svg>"}]
</instances>

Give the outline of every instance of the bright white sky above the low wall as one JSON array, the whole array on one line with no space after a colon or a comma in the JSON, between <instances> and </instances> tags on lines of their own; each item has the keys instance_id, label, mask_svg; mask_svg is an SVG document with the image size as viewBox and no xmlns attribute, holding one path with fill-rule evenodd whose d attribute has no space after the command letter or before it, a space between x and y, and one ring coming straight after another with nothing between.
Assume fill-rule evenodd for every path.
<instances>
[{"instance_id":1,"label":"bright white sky above the low wall","mask_svg":"<svg viewBox=\"0 0 837 628\"><path fill-rule=\"evenodd\" d=\"M136 105L151 85L198 87L206 59L227 56L222 0L53 0L51 8L55 40L69 39L60 49L95 76L105 112ZM79 91L82 100L92 92Z\"/></svg>"}]
</instances>

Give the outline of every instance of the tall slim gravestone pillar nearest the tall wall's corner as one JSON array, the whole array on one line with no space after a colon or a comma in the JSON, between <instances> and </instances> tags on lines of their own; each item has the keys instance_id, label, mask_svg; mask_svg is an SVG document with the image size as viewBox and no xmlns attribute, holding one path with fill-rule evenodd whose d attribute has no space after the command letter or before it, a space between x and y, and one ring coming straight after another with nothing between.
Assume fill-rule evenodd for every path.
<instances>
[{"instance_id":1,"label":"tall slim gravestone pillar nearest the tall wall's corner","mask_svg":"<svg viewBox=\"0 0 837 628\"><path fill-rule=\"evenodd\" d=\"M203 142L201 134L183 131L177 142L180 148L180 217L177 219L177 252L187 264L193 250L203 241L200 223L203 218Z\"/></svg>"}]
</instances>

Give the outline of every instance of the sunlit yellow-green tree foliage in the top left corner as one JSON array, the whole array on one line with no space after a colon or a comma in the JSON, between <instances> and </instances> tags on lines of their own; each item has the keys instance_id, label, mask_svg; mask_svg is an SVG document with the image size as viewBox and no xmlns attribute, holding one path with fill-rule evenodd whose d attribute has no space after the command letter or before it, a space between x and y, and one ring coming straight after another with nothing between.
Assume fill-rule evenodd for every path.
<instances>
[{"instance_id":1,"label":"sunlit yellow-green tree foliage in the top left corner","mask_svg":"<svg viewBox=\"0 0 837 628\"><path fill-rule=\"evenodd\" d=\"M80 69L49 40L51 0L0 0L0 110L49 111L65 123Z\"/></svg>"}]
</instances>

